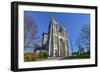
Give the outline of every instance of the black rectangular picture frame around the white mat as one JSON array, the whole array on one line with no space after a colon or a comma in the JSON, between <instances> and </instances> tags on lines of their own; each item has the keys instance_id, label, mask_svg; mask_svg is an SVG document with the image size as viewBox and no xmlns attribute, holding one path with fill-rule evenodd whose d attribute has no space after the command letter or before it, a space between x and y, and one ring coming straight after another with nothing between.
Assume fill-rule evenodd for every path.
<instances>
[{"instance_id":1,"label":"black rectangular picture frame around the white mat","mask_svg":"<svg viewBox=\"0 0 100 73\"><path fill-rule=\"evenodd\" d=\"M95 64L74 65L74 66L53 66L40 68L18 68L18 5L36 5L36 6L52 6L52 7L69 7L69 8L85 8L95 10ZM64 68L81 68L97 66L97 7L82 5L65 5L65 4L49 4L34 2L12 2L11 3L11 70L12 71L31 71L31 70L49 70Z\"/></svg>"}]
</instances>

